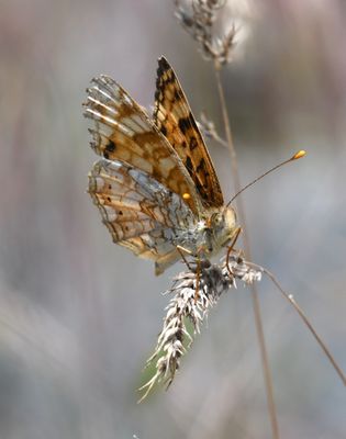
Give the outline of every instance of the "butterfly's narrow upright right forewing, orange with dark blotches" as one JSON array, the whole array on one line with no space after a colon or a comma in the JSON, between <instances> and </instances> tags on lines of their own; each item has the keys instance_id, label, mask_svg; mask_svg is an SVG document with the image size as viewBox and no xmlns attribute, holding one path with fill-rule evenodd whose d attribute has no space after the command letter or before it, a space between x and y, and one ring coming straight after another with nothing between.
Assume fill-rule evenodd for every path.
<instances>
[{"instance_id":1,"label":"butterfly's narrow upright right forewing, orange with dark blotches","mask_svg":"<svg viewBox=\"0 0 346 439\"><path fill-rule=\"evenodd\" d=\"M168 61L158 60L154 122L181 158L205 207L224 204L219 179L187 98Z\"/></svg>"}]
</instances>

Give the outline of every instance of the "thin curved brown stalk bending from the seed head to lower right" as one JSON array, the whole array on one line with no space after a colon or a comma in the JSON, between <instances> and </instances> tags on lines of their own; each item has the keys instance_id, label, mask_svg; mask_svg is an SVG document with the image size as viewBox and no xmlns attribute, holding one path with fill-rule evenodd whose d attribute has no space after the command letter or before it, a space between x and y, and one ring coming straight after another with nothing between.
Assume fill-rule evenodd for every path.
<instances>
[{"instance_id":1,"label":"thin curved brown stalk bending from the seed head to lower right","mask_svg":"<svg viewBox=\"0 0 346 439\"><path fill-rule=\"evenodd\" d=\"M327 359L331 361L333 368L335 369L336 373L338 374L338 376L341 378L343 384L346 386L346 376L344 374L344 372L342 371L341 367L337 364L337 362L335 361L334 357L332 356L331 351L328 350L328 348L325 346L325 344L322 341L321 337L319 336L319 334L316 333L315 328L312 326L311 322L309 320L309 318L306 317L305 313L303 312L303 309L298 305L298 303L295 302L294 297L292 296L292 294L288 294L282 286L280 285L280 283L277 281L276 277L268 271L267 269L258 266L257 263L253 263L253 262L246 262L248 266L254 267L260 271L263 271L265 274L268 275L268 278L272 281L272 283L277 286L277 289L280 291L280 293L283 295L283 297L294 307L294 309L297 311L297 313L300 315L300 317L302 318L302 320L304 322L304 324L308 326L308 328L310 329L311 334L314 336L315 340L317 341L317 344L320 345L320 347L322 348L322 350L324 351L324 353L326 354Z\"/></svg>"}]
</instances>

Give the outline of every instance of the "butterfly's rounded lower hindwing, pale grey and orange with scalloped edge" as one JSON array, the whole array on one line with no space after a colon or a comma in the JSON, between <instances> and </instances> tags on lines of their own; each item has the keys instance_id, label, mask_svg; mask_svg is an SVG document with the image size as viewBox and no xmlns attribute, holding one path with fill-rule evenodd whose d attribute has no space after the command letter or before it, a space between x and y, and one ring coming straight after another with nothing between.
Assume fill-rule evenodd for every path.
<instances>
[{"instance_id":1,"label":"butterfly's rounded lower hindwing, pale grey and orange with scalloped edge","mask_svg":"<svg viewBox=\"0 0 346 439\"><path fill-rule=\"evenodd\" d=\"M142 257L156 260L175 250L175 234L194 221L179 195L119 160L94 164L89 173L89 193L113 240Z\"/></svg>"}]
</instances>

